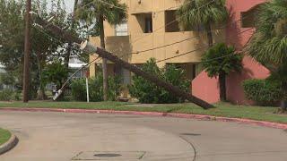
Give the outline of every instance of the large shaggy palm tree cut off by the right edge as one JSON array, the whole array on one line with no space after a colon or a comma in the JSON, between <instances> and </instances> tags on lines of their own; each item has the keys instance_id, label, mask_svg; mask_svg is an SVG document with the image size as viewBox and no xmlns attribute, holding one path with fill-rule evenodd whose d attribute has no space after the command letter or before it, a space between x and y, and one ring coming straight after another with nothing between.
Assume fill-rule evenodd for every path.
<instances>
[{"instance_id":1,"label":"large shaggy palm tree cut off by the right edge","mask_svg":"<svg viewBox=\"0 0 287 161\"><path fill-rule=\"evenodd\" d=\"M282 72L283 66L287 64L286 0L272 0L260 6L256 31L248 42L245 51L272 72ZM283 92L287 93L287 80L280 80ZM283 101L282 111L286 110L287 103Z\"/></svg>"}]
</instances>

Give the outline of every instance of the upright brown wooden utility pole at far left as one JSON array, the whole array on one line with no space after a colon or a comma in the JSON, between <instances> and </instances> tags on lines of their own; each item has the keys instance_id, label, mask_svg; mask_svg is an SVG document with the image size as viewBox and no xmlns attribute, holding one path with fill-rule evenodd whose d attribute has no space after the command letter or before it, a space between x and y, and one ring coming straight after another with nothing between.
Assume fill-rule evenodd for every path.
<instances>
[{"instance_id":1,"label":"upright brown wooden utility pole at far left","mask_svg":"<svg viewBox=\"0 0 287 161\"><path fill-rule=\"evenodd\" d=\"M30 8L31 0L26 2L25 17L25 48L24 48L24 70L23 70L23 102L29 101L30 89Z\"/></svg>"}]
</instances>

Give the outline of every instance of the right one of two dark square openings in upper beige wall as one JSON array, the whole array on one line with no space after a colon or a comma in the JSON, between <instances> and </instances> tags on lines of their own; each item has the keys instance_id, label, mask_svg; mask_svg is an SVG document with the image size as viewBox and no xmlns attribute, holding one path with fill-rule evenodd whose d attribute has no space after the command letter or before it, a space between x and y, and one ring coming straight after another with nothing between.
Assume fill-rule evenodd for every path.
<instances>
[{"instance_id":1,"label":"right one of two dark square openings in upper beige wall","mask_svg":"<svg viewBox=\"0 0 287 161\"><path fill-rule=\"evenodd\" d=\"M165 31L178 32L179 30L176 10L165 11Z\"/></svg>"}]
</instances>

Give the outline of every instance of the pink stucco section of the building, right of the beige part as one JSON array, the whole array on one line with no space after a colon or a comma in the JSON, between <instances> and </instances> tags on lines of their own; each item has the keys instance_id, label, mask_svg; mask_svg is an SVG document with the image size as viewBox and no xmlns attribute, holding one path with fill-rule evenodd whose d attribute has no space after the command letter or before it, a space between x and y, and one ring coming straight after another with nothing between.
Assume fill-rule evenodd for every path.
<instances>
[{"instance_id":1,"label":"pink stucco section of the building, right of the beige part","mask_svg":"<svg viewBox=\"0 0 287 161\"><path fill-rule=\"evenodd\" d=\"M246 12L257 4L262 4L266 0L227 0L227 7L230 10L230 21L226 28L226 43L233 45L238 51L246 45L254 30L241 28L241 12ZM245 30L248 30L245 32ZM241 33L244 32L244 33ZM243 59L243 71L241 73L232 72L226 81L227 98L235 104L252 104L252 101L244 97L241 83L247 79L265 79L269 75L269 71L258 64L248 56ZM219 85L218 80L208 78L206 72L201 72L195 80L192 81L192 93L196 97L200 97L209 103L218 102Z\"/></svg>"}]
</instances>

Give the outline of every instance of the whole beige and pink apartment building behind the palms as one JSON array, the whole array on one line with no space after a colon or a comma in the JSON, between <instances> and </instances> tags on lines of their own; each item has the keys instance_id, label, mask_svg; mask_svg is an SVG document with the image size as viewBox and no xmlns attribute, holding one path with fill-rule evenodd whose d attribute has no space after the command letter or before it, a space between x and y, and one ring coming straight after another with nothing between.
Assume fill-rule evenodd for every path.
<instances>
[{"instance_id":1,"label":"whole beige and pink apartment building behind the palms","mask_svg":"<svg viewBox=\"0 0 287 161\"><path fill-rule=\"evenodd\" d=\"M104 23L106 49L131 64L144 64L151 57L159 61L160 67L176 64L187 72L195 96L210 103L219 101L218 80L208 78L200 65L201 55L208 47L204 30L182 30L178 25L176 10L184 0L122 0L121 2L126 3L128 7L128 18L117 26ZM244 34L240 32L252 27L254 7L264 2L265 0L227 0L230 21L228 24L222 24L220 28L213 27L213 42L226 42L240 51L253 31ZM238 21L242 16L247 18ZM100 38L91 38L91 42L100 46ZM91 55L90 60L96 57L97 55ZM255 71L253 75L248 75L245 71L241 75L230 74L227 93L228 98L235 103L247 102L242 96L243 90L240 85L242 80L265 78L269 73L248 57L244 58L243 64L248 68L246 71ZM96 70L96 65L91 65L91 76ZM109 74L122 75L126 83L131 80L130 72L112 63L109 63L108 71Z\"/></svg>"}]
</instances>

